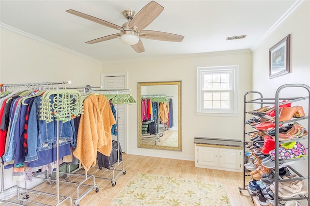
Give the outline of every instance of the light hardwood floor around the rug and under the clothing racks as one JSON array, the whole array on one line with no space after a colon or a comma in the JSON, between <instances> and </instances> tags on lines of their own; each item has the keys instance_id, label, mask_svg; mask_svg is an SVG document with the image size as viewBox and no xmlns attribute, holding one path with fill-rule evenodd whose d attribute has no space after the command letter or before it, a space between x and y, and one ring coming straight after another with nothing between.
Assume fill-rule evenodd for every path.
<instances>
[{"instance_id":1,"label":"light hardwood floor around the rug and under the clothing racks","mask_svg":"<svg viewBox=\"0 0 310 206\"><path fill-rule=\"evenodd\" d=\"M112 187L110 179L95 178L95 182L99 189L99 192L97 193L94 191L94 189L92 189L92 191L88 193L85 192L87 193L85 197L77 198L77 195L74 194L77 193L76 186L72 187L69 184L60 184L60 195L71 195L72 198L78 199L78 204L80 206L109 206L113 199L116 198L116 196L124 189L130 179L134 177L137 173L143 172L170 177L199 179L210 183L221 183L226 185L227 187L231 206L254 206L251 198L248 195L248 191L243 191L242 193L240 193L238 190L239 187L243 186L243 173L197 168L194 166L193 161L129 155L125 153L123 153L123 162L126 174L124 175L123 173L121 173L120 176L115 179L116 186ZM88 171L88 174L91 174L93 171L97 171L95 173L95 177L112 177L112 170L110 170L109 172L106 172L105 170L98 171L98 168L93 167ZM84 173L85 170L81 169L78 172ZM69 181L75 181L73 177L70 178L72 178L72 180L70 179ZM88 184L91 186L93 185L92 179L89 181ZM48 182L45 182L34 189L37 191L56 194L56 184L48 184ZM82 194L83 193L81 192L79 195ZM47 199L46 196L39 195L37 198L46 199L45 201L42 200L42 203L46 203L48 205L56 205L51 204L52 202L55 202L55 198ZM51 199L53 199L53 201ZM25 205L28 206L27 203L25 203ZM70 205L70 202L64 201L61 205L67 206ZM132 205L135 206L135 203L133 203ZM32 204L29 206L32 206Z\"/></svg>"}]
</instances>

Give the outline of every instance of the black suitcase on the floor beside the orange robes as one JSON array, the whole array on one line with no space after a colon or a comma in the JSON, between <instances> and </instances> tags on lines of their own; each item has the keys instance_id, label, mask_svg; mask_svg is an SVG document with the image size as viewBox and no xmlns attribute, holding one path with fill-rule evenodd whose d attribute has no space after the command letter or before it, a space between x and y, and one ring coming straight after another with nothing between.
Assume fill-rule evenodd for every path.
<instances>
[{"instance_id":1,"label":"black suitcase on the floor beside the orange robes","mask_svg":"<svg viewBox=\"0 0 310 206\"><path fill-rule=\"evenodd\" d=\"M122 148L120 143L118 143L119 146L119 158L120 161L122 161ZM106 155L101 154L100 152L97 152L97 160L98 160L98 166L101 170L103 167L107 168L108 170L110 167L117 162L117 141L112 140L112 151L109 157Z\"/></svg>"}]
</instances>

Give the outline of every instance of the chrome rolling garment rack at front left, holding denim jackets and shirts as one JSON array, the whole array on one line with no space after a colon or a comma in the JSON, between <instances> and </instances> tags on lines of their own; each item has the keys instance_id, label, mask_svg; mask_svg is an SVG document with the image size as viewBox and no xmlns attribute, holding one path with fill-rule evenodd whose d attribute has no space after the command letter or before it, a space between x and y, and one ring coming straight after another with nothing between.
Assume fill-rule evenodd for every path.
<instances>
[{"instance_id":1,"label":"chrome rolling garment rack at front left, holding denim jackets and shirts","mask_svg":"<svg viewBox=\"0 0 310 206\"><path fill-rule=\"evenodd\" d=\"M19 90L23 89L24 87L27 87L28 90L32 90L32 89L39 89L39 90L43 90L43 89L50 89L49 85L56 85L56 90L59 90L59 86L60 85L64 85L64 84L71 84L71 81L68 82L43 82L43 83L30 83L30 84L9 84L9 85L2 85L3 91L6 90L6 88L18 88ZM54 88L54 87L53 87ZM59 121L57 121L57 140L56 140L56 151L57 151L57 164L56 164L56 177L53 179L50 179L49 176L47 175L47 178L41 178L41 177L34 177L34 178L39 178L42 180L46 180L49 182L49 185L52 185L53 182L56 182L56 194L54 194L53 192L55 192L53 190L53 192L51 193L46 193L46 192L40 192L37 190L30 190L27 189L27 180L25 181L25 188L19 188L18 186L14 186L11 187L7 190L4 191L4 168L2 166L2 188L1 188L1 192L0 192L0 202L6 202L6 203L10 203L13 205L24 205L24 202L30 202L30 203L35 203L35 200L31 199L32 195L29 194L34 194L34 197L38 197L38 195L42 195L42 196L46 196L46 198L39 198L40 200L44 200L47 201L47 204L55 204L55 205L59 205L61 203L63 203L66 200L70 200L70 205L72 205L72 199L75 199L74 204L78 206L78 201L83 198L88 192L90 192L92 189L95 189L96 192L98 192L98 187L95 183L95 178L94 176L81 176L78 174L72 174L72 173L62 173L59 171ZM3 162L3 160L2 160ZM3 163L2 163L3 164ZM62 181L60 181L60 173L62 174ZM80 177L83 177L80 179ZM86 183L86 182L90 182L92 181L93 184L91 185L90 183ZM60 195L60 182L62 182L62 186L65 187L69 184L74 184L75 186L77 186L77 195L72 194L71 193L67 193L67 196L61 196ZM36 186L36 187L40 187L42 184ZM35 187L35 188L36 188ZM62 188L63 188L62 187ZM43 188L38 188L41 191L45 191ZM15 195L12 193L12 191L15 192ZM20 193L22 191L22 193ZM80 195L80 191L82 192L82 194ZM65 191L64 191L65 193ZM50 198L47 197L56 197L56 201L52 201L50 200ZM60 200L61 199L61 200ZM19 202L18 202L19 201ZM46 205L44 202L40 202L40 203L35 203L38 205Z\"/></svg>"}]
</instances>

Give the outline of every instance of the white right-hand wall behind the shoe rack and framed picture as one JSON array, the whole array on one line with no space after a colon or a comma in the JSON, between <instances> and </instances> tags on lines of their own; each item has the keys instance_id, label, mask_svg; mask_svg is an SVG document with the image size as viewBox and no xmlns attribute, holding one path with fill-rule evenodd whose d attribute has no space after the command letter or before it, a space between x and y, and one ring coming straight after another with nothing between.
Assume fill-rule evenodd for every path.
<instances>
[{"instance_id":1,"label":"white right-hand wall behind the shoe rack and framed picture","mask_svg":"<svg viewBox=\"0 0 310 206\"><path fill-rule=\"evenodd\" d=\"M269 48L277 44L286 35L291 34L291 73L269 79ZM261 91L264 97L275 98L277 88L284 84L301 83L310 86L310 1L306 0L274 32L253 51L253 90ZM309 95L304 88L284 88L280 97L300 97ZM309 111L308 101L292 103L302 105ZM307 115L308 116L308 115ZM308 122L301 121L304 127ZM309 132L309 131L308 131ZM307 148L307 141L302 141ZM309 148L309 146L308 146ZM307 150L309 156L309 149ZM306 161L297 161L292 165L298 172L308 175ZM307 182L307 181L306 181ZM302 205L307 205L307 201Z\"/></svg>"}]
</instances>

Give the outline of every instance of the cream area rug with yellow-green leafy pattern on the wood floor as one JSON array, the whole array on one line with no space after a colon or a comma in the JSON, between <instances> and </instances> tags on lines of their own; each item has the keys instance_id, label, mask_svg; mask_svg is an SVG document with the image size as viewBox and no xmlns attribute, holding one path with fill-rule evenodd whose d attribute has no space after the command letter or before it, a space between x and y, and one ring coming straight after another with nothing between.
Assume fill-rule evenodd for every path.
<instances>
[{"instance_id":1,"label":"cream area rug with yellow-green leafy pattern on the wood floor","mask_svg":"<svg viewBox=\"0 0 310 206\"><path fill-rule=\"evenodd\" d=\"M224 185L137 173L110 206L230 206Z\"/></svg>"}]
</instances>

